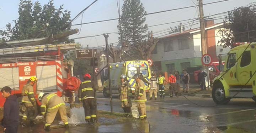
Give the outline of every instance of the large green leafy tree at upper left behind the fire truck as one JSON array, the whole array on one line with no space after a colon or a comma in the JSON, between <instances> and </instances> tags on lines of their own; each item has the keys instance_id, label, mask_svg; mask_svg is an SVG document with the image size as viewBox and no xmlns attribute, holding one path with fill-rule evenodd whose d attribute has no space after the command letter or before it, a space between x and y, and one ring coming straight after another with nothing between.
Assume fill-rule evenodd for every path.
<instances>
[{"instance_id":1,"label":"large green leafy tree at upper left behind the fire truck","mask_svg":"<svg viewBox=\"0 0 256 133\"><path fill-rule=\"evenodd\" d=\"M14 21L14 27L8 23L5 30L0 30L2 40L48 37L70 30L70 26L63 29L70 22L70 11L63 11L63 5L55 8L53 4L53 0L50 0L48 4L42 7L39 1L33 5L32 0L20 0L19 18ZM68 42L69 40L66 38L63 41Z\"/></svg>"}]
</instances>

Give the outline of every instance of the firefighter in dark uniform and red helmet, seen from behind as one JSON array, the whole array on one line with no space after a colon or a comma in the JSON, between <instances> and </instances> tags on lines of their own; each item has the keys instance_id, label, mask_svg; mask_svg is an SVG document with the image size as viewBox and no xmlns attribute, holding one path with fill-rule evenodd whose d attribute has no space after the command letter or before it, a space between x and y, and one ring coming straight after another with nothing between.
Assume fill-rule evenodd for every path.
<instances>
[{"instance_id":1,"label":"firefighter in dark uniform and red helmet, seen from behind","mask_svg":"<svg viewBox=\"0 0 256 133\"><path fill-rule=\"evenodd\" d=\"M85 121L94 124L96 120L96 102L94 97L94 83L91 81L91 75L84 75L85 81L80 84L78 90L79 101L83 102L85 111Z\"/></svg>"}]
</instances>

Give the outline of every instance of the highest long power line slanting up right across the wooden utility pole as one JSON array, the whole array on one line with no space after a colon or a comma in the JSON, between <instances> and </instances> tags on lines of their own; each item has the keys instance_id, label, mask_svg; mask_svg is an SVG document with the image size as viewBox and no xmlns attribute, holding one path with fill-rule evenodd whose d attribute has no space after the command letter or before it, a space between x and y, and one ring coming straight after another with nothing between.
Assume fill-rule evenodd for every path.
<instances>
[{"instance_id":1,"label":"highest long power line slanting up right across the wooden utility pole","mask_svg":"<svg viewBox=\"0 0 256 133\"><path fill-rule=\"evenodd\" d=\"M210 3L203 4L203 5L209 5L209 4L214 4L214 3L224 2L224 1L230 1L230 0L222 0L222 1L210 2ZM140 15L140 16L146 16L146 15L152 15L152 14L156 14L156 13L162 13L162 12L169 12L169 11L181 10L181 9L191 8L191 7L197 7L197 6L187 6L187 7L175 8L175 9L171 9L171 10L165 10L165 11L159 11L159 12L146 13L146 14ZM123 17L123 18L120 18L120 19L125 19L125 18L132 18L132 17ZM99 22L113 21L113 20L118 20L118 19L119 19L119 18L113 18L113 19L106 19L106 20L101 20L101 21L87 22L87 23L82 23L82 24L99 23ZM81 25L81 24L72 24L71 26L75 26L75 25Z\"/></svg>"}]
</instances>

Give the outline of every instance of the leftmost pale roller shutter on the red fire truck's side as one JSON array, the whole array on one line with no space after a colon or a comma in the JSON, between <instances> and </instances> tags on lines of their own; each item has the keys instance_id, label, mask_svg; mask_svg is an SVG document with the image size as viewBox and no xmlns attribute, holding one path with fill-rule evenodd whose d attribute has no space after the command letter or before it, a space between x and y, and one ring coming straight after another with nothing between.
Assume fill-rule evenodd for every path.
<instances>
[{"instance_id":1,"label":"leftmost pale roller shutter on the red fire truck's side","mask_svg":"<svg viewBox=\"0 0 256 133\"><path fill-rule=\"evenodd\" d=\"M0 88L9 86L19 89L19 73L16 68L0 68Z\"/></svg>"}]
</instances>

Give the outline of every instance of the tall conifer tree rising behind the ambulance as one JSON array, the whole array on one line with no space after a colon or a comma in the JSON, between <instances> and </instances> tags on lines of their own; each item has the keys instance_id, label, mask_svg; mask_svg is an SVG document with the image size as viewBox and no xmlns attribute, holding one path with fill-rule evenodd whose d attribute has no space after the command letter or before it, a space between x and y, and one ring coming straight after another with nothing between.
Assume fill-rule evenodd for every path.
<instances>
[{"instance_id":1,"label":"tall conifer tree rising behind the ambulance","mask_svg":"<svg viewBox=\"0 0 256 133\"><path fill-rule=\"evenodd\" d=\"M148 25L145 24L146 11L143 7L143 4L140 0L124 0L122 7L122 15L118 23L118 34L119 42L123 41L129 42L132 45L137 45L145 37L148 37L148 34L145 34L148 31Z\"/></svg>"}]
</instances>

